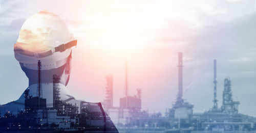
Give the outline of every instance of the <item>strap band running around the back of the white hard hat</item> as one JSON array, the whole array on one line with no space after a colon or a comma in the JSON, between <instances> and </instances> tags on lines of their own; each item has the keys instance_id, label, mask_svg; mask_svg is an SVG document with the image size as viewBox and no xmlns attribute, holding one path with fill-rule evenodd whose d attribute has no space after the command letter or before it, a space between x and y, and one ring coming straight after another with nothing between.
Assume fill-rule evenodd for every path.
<instances>
[{"instance_id":1,"label":"strap band running around the back of the white hard hat","mask_svg":"<svg viewBox=\"0 0 256 133\"><path fill-rule=\"evenodd\" d=\"M45 51L40 51L40 52L27 51L27 50L18 48L14 45L14 52L17 52L19 54L23 54L23 55L26 55L26 56L29 56L29 57L44 58L44 57L47 57L47 56L51 56L54 52L58 52L58 51L63 52L66 49L71 48L71 47L76 46L76 45L77 45L77 40L73 40L73 41L70 41L66 44L61 44L57 47L51 47L50 49L47 49Z\"/></svg>"}]
</instances>

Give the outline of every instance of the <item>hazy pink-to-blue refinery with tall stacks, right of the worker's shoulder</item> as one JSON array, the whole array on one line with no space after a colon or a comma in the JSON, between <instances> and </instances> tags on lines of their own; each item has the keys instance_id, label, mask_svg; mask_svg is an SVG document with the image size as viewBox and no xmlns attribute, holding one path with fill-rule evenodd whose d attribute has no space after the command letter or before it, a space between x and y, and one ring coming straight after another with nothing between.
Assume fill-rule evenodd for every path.
<instances>
[{"instance_id":1,"label":"hazy pink-to-blue refinery with tall stacks, right of the worker's shoulder","mask_svg":"<svg viewBox=\"0 0 256 133\"><path fill-rule=\"evenodd\" d=\"M218 107L217 60L214 60L213 106L204 113L193 112L193 104L183 99L183 55L178 53L178 93L172 108L165 114L148 113L141 107L141 89L137 95L128 95L127 61L125 62L125 96L119 107L113 107L113 75L106 76L106 97L103 102L106 112L119 132L256 132L256 118L240 114L239 101L233 101L231 79L224 79L223 102ZM205 99L207 100L207 99ZM210 100L210 99L208 99Z\"/></svg>"}]
</instances>

